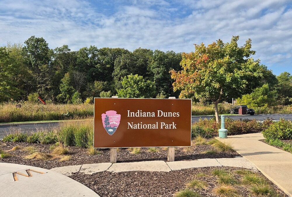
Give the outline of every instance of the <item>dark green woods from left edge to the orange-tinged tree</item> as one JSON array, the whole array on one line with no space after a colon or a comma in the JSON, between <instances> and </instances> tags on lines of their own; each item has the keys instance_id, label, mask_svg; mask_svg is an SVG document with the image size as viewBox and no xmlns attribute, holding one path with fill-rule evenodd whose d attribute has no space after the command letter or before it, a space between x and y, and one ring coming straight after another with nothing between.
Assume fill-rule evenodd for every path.
<instances>
[{"instance_id":1,"label":"dark green woods from left edge to the orange-tinged tree","mask_svg":"<svg viewBox=\"0 0 292 197\"><path fill-rule=\"evenodd\" d=\"M181 53L145 48L50 49L44 38L31 36L24 45L0 47L0 102L34 101L37 96L54 103L116 94L178 97L169 71L179 71L180 61ZM133 89L131 83L140 85Z\"/></svg>"}]
</instances>

